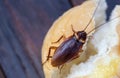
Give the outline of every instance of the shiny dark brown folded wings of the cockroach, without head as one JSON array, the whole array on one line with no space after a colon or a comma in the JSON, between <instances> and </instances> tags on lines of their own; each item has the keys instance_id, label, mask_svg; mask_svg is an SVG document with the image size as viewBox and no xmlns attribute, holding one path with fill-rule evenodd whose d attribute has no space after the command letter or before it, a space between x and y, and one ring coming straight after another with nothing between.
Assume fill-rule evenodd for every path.
<instances>
[{"instance_id":1,"label":"shiny dark brown folded wings of the cockroach, without head","mask_svg":"<svg viewBox=\"0 0 120 78\"><path fill-rule=\"evenodd\" d=\"M75 36L71 36L56 49L51 59L52 66L57 67L71 60L79 53L82 46L83 43L79 42Z\"/></svg>"}]
</instances>

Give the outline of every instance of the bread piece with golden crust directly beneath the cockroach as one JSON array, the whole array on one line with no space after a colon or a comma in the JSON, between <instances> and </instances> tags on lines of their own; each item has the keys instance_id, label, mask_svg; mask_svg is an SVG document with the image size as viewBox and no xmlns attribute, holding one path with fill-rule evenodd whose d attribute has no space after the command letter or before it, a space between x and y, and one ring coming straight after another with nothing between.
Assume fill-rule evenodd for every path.
<instances>
[{"instance_id":1,"label":"bread piece with golden crust directly beneath the cockroach","mask_svg":"<svg viewBox=\"0 0 120 78\"><path fill-rule=\"evenodd\" d=\"M45 62L45 60L47 59L50 46L58 47L64 41L64 39L62 39L59 43L56 43L56 44L52 44L52 42L57 41L62 35L64 35L66 38L68 38L69 36L71 36L73 34L71 25L73 25L73 28L76 31L81 31L86 27L86 25L92 18L97 5L98 5L98 0L97 1L96 0L86 1L82 5L76 6L72 9L68 10L53 23L53 25L51 26L47 35L45 36L45 39L43 42L42 62ZM90 23L89 27L86 29L87 33L89 31L91 31L92 29L94 29L95 26L98 26L101 23L105 22L105 18L106 18L105 10L107 7L106 7L106 3L104 0L101 1L101 5L102 5L102 7L98 8L97 12L94 15L94 19ZM100 12L100 14L99 14L99 12ZM89 35L91 35L91 34L89 34ZM65 78L65 77L83 78L81 75L79 75L79 72L77 72L77 70L75 68L77 66L86 64L86 62L89 60L90 56L97 54L97 50L94 49L94 47L92 47L91 45L94 45L94 44L92 44L92 40L88 39L88 42L86 42L86 44L83 47L84 51L82 52L80 57L73 61L65 63L65 65L61 69L61 71L60 71L60 69L58 69L58 67L53 67L51 65L51 60L46 62L43 65L45 78ZM54 50L51 52L51 56L53 55L53 53L54 53ZM84 67L84 68L87 69L87 67ZM75 73L73 72L75 70L79 76L75 75ZM88 78L90 78L90 77L88 77Z\"/></svg>"}]
</instances>

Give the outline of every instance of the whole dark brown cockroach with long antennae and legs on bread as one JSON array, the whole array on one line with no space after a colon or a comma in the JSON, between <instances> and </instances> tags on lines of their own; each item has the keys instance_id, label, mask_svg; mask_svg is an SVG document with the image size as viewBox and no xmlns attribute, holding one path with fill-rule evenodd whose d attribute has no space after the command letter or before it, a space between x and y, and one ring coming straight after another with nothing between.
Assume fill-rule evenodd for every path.
<instances>
[{"instance_id":1,"label":"whole dark brown cockroach with long antennae and legs on bread","mask_svg":"<svg viewBox=\"0 0 120 78\"><path fill-rule=\"evenodd\" d=\"M100 4L100 0L98 2L98 5ZM96 9L98 8L98 6L96 7ZM86 33L85 30L87 29L87 27L89 26L90 22L92 21L94 14L96 12L96 9L93 13L93 16L91 18L91 20L89 21L89 23L87 24L87 26L82 30L82 31L75 31L72 27L72 31L73 31L73 35L71 35L70 37L66 38L60 45L59 47L55 47L55 46L51 46L49 48L49 52L48 52L48 56L46 61L43 63L43 65L49 60L49 58L51 58L51 65L53 67L59 67L64 65L65 63L67 63L68 61L72 61L76 58L79 57L79 53L83 52L82 47L86 42L87 39L87 35L89 33L91 33L93 30L99 28L100 26L104 25L105 23L97 26L96 28L92 29L90 32ZM115 19L115 18L114 18ZM112 19L113 20L113 19ZM110 21L112 21L110 20ZM108 21L108 22L110 22ZM107 23L108 23L107 22ZM57 43L59 42L62 38L64 37L61 36L56 42L53 43ZM55 49L55 52L53 54L53 56L50 56L51 53L51 49Z\"/></svg>"}]
</instances>

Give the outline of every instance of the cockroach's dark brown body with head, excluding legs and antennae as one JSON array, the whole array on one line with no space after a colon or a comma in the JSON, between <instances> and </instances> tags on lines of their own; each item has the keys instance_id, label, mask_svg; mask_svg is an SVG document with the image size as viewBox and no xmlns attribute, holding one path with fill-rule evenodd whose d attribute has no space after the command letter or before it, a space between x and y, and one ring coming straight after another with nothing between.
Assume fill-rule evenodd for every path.
<instances>
[{"instance_id":1,"label":"cockroach's dark brown body with head, excluding legs and antennae","mask_svg":"<svg viewBox=\"0 0 120 78\"><path fill-rule=\"evenodd\" d=\"M51 59L51 65L60 66L68 61L79 57L83 44L86 41L87 33L84 31L74 32L56 50Z\"/></svg>"}]
</instances>

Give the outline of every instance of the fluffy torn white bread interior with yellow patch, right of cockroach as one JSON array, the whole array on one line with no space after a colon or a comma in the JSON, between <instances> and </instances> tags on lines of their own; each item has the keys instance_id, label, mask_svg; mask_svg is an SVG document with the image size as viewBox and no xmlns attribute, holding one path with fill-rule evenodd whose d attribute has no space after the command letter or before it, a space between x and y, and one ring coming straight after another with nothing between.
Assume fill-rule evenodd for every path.
<instances>
[{"instance_id":1,"label":"fluffy torn white bread interior with yellow patch, right of cockroach","mask_svg":"<svg viewBox=\"0 0 120 78\"><path fill-rule=\"evenodd\" d=\"M120 6L112 13L111 20L120 16ZM89 51L95 51L86 62L74 65L67 78L120 78L120 17L97 29L88 42Z\"/></svg>"}]
</instances>

